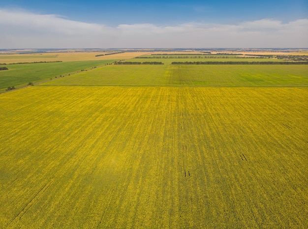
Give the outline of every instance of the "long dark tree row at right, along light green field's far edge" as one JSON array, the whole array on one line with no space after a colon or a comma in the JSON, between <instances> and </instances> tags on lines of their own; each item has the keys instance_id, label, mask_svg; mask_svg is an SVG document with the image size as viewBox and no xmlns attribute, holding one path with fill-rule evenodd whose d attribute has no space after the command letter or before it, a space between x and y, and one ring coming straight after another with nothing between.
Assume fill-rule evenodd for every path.
<instances>
[{"instance_id":1,"label":"long dark tree row at right, along light green field's far edge","mask_svg":"<svg viewBox=\"0 0 308 229\"><path fill-rule=\"evenodd\" d=\"M208 61L208 62L172 62L171 65L308 65L308 62L248 62L248 61Z\"/></svg>"}]
</instances>

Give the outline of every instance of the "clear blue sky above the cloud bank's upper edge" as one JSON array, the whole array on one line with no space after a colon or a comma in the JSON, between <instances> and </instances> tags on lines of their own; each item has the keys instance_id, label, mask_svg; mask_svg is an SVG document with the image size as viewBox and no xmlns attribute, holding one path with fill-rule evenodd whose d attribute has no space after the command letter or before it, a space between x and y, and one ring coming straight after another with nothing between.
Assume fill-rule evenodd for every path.
<instances>
[{"instance_id":1,"label":"clear blue sky above the cloud bank's upper edge","mask_svg":"<svg viewBox=\"0 0 308 229\"><path fill-rule=\"evenodd\" d=\"M1 7L111 26L308 18L308 0L5 0Z\"/></svg>"}]
</instances>

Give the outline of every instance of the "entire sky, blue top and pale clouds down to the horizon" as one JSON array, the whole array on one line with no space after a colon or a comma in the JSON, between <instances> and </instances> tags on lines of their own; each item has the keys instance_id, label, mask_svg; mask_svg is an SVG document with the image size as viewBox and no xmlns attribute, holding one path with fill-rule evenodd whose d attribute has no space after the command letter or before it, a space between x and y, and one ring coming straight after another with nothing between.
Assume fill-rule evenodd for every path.
<instances>
[{"instance_id":1,"label":"entire sky, blue top and pale clouds down to the horizon","mask_svg":"<svg viewBox=\"0 0 308 229\"><path fill-rule=\"evenodd\" d=\"M0 49L308 48L308 0L0 0Z\"/></svg>"}]
</instances>

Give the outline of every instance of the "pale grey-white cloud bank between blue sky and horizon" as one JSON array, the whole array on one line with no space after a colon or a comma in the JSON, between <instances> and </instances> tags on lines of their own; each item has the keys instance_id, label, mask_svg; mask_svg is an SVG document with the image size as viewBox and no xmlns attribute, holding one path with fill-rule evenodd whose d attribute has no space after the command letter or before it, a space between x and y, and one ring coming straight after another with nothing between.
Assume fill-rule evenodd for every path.
<instances>
[{"instance_id":1,"label":"pale grey-white cloud bank between blue sky and horizon","mask_svg":"<svg viewBox=\"0 0 308 229\"><path fill-rule=\"evenodd\" d=\"M308 48L308 19L118 25L0 9L0 48Z\"/></svg>"}]
</instances>

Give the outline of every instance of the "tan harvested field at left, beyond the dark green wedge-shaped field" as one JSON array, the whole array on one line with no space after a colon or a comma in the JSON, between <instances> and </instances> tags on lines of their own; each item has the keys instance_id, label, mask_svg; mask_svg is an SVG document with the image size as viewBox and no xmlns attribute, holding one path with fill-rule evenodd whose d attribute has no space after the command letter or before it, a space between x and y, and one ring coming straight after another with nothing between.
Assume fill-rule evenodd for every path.
<instances>
[{"instance_id":1,"label":"tan harvested field at left, beyond the dark green wedge-shaped field","mask_svg":"<svg viewBox=\"0 0 308 229\"><path fill-rule=\"evenodd\" d=\"M35 53L35 54L0 54L0 63L24 63L24 62L52 62L52 61L93 61L93 60L121 60L145 55L143 52L127 52L114 55L95 57L106 54L104 52L59 52L59 53Z\"/></svg>"}]
</instances>

